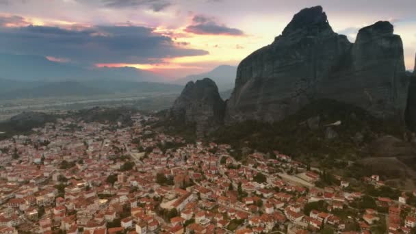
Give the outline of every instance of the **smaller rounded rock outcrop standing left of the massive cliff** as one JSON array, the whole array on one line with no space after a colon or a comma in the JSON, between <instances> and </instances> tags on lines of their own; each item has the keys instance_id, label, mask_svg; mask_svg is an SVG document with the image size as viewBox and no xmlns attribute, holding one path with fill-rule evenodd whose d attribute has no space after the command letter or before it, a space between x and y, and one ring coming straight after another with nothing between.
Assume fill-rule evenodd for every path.
<instances>
[{"instance_id":1,"label":"smaller rounded rock outcrop standing left of the massive cliff","mask_svg":"<svg viewBox=\"0 0 416 234\"><path fill-rule=\"evenodd\" d=\"M224 123L225 102L216 83L209 78L186 84L169 117L186 125L196 125L197 135L204 135Z\"/></svg>"}]
</instances>

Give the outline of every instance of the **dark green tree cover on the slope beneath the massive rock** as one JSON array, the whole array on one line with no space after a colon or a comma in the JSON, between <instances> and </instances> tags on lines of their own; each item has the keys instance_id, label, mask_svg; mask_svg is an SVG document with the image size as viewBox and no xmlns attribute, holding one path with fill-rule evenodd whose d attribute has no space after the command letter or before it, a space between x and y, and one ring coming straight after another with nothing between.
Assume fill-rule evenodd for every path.
<instances>
[{"instance_id":1,"label":"dark green tree cover on the slope beneath the massive rock","mask_svg":"<svg viewBox=\"0 0 416 234\"><path fill-rule=\"evenodd\" d=\"M320 127L311 130L307 120L316 116L320 117ZM339 137L325 138L324 125L339 120L341 125L333 128ZM264 153L278 150L292 157L349 159L352 155L361 155L359 146L374 140L378 133L400 136L402 132L399 125L385 124L359 107L322 99L280 122L241 122L223 127L212 136L217 143L228 143L234 148L248 146ZM354 141L356 133L363 134L362 142Z\"/></svg>"}]
</instances>

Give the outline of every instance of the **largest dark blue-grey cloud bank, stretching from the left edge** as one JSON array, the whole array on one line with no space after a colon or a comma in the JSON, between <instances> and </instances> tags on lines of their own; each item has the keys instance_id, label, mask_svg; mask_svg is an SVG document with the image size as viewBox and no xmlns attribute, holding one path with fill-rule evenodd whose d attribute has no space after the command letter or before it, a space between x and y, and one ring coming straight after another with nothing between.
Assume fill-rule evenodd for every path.
<instances>
[{"instance_id":1,"label":"largest dark blue-grey cloud bank, stretching from the left edge","mask_svg":"<svg viewBox=\"0 0 416 234\"><path fill-rule=\"evenodd\" d=\"M183 49L148 27L0 27L0 52L62 57L79 64L155 63L166 57L206 55Z\"/></svg>"}]
</instances>

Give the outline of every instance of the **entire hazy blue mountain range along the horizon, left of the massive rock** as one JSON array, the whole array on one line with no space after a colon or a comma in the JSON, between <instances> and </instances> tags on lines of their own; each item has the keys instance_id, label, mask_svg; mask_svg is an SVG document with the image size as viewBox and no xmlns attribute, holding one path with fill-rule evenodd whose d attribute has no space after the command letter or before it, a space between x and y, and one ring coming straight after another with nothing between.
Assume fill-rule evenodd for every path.
<instances>
[{"instance_id":1,"label":"entire hazy blue mountain range along the horizon, left of the massive rock","mask_svg":"<svg viewBox=\"0 0 416 234\"><path fill-rule=\"evenodd\" d=\"M237 70L234 66L218 66L207 73L172 82L151 71L132 67L84 68L39 55L5 53L0 53L0 67L0 99L179 93L187 81L203 77L213 77L227 97Z\"/></svg>"}]
</instances>

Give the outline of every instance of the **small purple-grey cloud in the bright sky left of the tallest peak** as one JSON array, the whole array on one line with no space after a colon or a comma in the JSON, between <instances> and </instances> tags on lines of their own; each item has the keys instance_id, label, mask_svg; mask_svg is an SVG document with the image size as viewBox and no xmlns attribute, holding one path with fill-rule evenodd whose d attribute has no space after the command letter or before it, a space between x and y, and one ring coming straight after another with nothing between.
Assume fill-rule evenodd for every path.
<instances>
[{"instance_id":1,"label":"small purple-grey cloud in the bright sky left of the tallest peak","mask_svg":"<svg viewBox=\"0 0 416 234\"><path fill-rule=\"evenodd\" d=\"M192 18L192 25L187 26L185 31L200 35L244 36L242 30L219 24L216 21L216 18L203 15L194 16L194 18Z\"/></svg>"}]
</instances>

